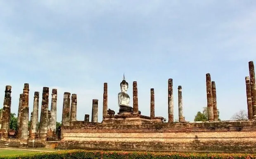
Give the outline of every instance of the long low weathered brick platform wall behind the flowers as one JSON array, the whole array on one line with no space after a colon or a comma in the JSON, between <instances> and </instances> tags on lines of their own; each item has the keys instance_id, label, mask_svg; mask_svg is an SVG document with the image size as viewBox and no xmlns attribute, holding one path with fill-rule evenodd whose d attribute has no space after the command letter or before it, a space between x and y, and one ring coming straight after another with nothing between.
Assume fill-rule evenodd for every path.
<instances>
[{"instance_id":1,"label":"long low weathered brick platform wall behind the flowers","mask_svg":"<svg viewBox=\"0 0 256 159\"><path fill-rule=\"evenodd\" d=\"M256 121L138 125L77 122L62 127L62 141L57 148L256 152Z\"/></svg>"}]
</instances>

